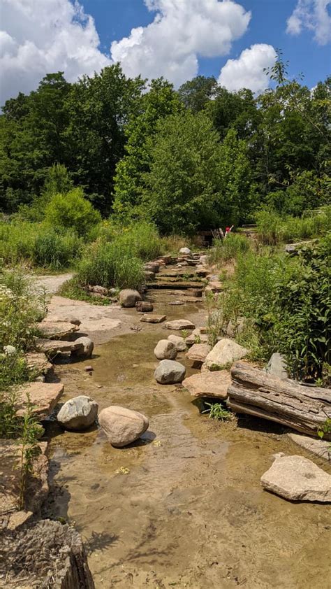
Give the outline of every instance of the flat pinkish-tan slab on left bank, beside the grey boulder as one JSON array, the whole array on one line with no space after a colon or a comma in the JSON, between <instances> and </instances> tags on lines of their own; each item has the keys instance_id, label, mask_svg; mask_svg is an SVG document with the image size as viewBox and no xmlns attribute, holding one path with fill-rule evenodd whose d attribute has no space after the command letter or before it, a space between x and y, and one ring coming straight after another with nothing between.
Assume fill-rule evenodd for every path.
<instances>
[{"instance_id":1,"label":"flat pinkish-tan slab on left bank, beside the grey boulder","mask_svg":"<svg viewBox=\"0 0 331 589\"><path fill-rule=\"evenodd\" d=\"M27 411L27 397L32 405L33 411L38 419L45 419L59 401L64 392L64 385L61 383L27 383L17 390L16 414L24 416Z\"/></svg>"}]
</instances>

